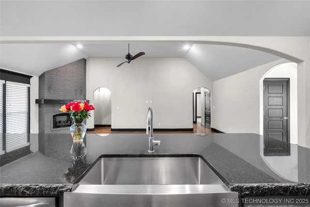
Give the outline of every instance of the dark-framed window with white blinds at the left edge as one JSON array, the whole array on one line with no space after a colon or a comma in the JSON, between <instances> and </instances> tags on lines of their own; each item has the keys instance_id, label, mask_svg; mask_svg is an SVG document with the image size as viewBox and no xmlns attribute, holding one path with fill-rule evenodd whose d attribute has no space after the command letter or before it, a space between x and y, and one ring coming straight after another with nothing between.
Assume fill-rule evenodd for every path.
<instances>
[{"instance_id":1,"label":"dark-framed window with white blinds at the left edge","mask_svg":"<svg viewBox=\"0 0 310 207\"><path fill-rule=\"evenodd\" d=\"M29 145L31 76L0 70L0 154Z\"/></svg>"}]
</instances>

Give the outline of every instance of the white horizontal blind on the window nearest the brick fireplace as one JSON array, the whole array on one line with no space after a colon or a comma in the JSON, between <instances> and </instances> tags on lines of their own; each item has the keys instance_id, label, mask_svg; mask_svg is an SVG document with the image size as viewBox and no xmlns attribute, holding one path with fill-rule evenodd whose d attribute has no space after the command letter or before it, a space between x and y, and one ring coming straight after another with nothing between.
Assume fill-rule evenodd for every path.
<instances>
[{"instance_id":1,"label":"white horizontal blind on the window nearest the brick fireplace","mask_svg":"<svg viewBox=\"0 0 310 207\"><path fill-rule=\"evenodd\" d=\"M6 81L6 152L28 143L29 86Z\"/></svg>"}]
</instances>

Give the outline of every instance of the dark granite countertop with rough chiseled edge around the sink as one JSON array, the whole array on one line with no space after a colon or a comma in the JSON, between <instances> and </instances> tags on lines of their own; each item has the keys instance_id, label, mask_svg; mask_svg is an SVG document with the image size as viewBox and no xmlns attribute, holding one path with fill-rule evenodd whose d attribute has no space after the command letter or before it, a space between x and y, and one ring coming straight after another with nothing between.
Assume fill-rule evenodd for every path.
<instances>
[{"instance_id":1,"label":"dark granite countertop with rough chiseled edge around the sink","mask_svg":"<svg viewBox=\"0 0 310 207\"><path fill-rule=\"evenodd\" d=\"M0 157L0 195L62 195L101 155L148 156L147 137L87 134L87 155L73 162L70 134L30 134L29 146ZM308 148L250 133L155 134L155 139L161 145L154 155L200 155L241 196L310 195Z\"/></svg>"}]
</instances>

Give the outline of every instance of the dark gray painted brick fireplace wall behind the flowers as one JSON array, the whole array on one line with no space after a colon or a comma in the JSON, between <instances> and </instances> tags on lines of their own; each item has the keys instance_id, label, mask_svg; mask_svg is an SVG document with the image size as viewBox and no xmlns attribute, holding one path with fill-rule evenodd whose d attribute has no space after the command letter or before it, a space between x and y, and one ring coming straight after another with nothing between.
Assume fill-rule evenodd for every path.
<instances>
[{"instance_id":1,"label":"dark gray painted brick fireplace wall behind the flowers","mask_svg":"<svg viewBox=\"0 0 310 207\"><path fill-rule=\"evenodd\" d=\"M80 59L46 71L39 77L40 99L86 99L86 60ZM39 133L70 133L70 127L53 129L52 116L63 103L39 104Z\"/></svg>"}]
</instances>

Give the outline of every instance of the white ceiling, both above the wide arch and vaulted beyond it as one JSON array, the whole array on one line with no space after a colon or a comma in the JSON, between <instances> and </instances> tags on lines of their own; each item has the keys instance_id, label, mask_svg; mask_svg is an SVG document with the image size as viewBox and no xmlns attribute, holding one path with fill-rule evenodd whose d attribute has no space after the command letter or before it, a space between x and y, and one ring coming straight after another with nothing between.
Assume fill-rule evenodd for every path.
<instances>
[{"instance_id":1,"label":"white ceiling, both above the wide arch and vaulted beyond it","mask_svg":"<svg viewBox=\"0 0 310 207\"><path fill-rule=\"evenodd\" d=\"M248 48L170 42L57 41L94 36L310 36L309 0L0 0L0 67L30 75L88 57L184 57L218 80L279 57ZM17 39L5 42L3 38ZM53 41L33 41L44 37ZM29 38L31 41L28 41ZM71 38L72 39L72 38ZM55 41L56 40L56 41ZM124 59L125 61L125 59ZM139 61L139 59L135 60Z\"/></svg>"}]
</instances>

